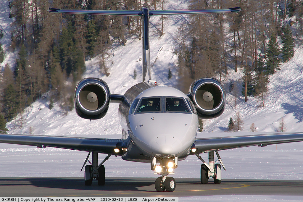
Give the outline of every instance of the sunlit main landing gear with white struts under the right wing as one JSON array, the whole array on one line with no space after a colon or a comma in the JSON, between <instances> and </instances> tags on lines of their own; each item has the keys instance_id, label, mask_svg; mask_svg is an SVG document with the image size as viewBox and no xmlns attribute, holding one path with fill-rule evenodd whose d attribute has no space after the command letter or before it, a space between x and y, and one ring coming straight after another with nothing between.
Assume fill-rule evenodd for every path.
<instances>
[{"instance_id":1,"label":"sunlit main landing gear with white struts under the right wing","mask_svg":"<svg viewBox=\"0 0 303 202\"><path fill-rule=\"evenodd\" d=\"M201 184L207 184L210 177L214 179L215 184L221 184L221 165L217 162L219 161L222 164L223 169L226 169L218 151L216 151L218 161L215 162L214 153L214 151L208 152L208 164L201 158L201 156L199 156L199 154L196 154L196 156L203 162L201 165Z\"/></svg>"}]
</instances>

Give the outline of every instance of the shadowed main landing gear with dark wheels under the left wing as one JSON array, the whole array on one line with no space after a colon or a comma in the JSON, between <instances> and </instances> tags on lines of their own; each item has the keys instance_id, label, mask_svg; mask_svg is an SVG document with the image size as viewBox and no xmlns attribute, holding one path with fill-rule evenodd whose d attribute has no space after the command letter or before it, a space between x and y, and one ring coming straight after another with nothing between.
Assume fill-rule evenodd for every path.
<instances>
[{"instance_id":1,"label":"shadowed main landing gear with dark wheels under the left wing","mask_svg":"<svg viewBox=\"0 0 303 202\"><path fill-rule=\"evenodd\" d=\"M83 164L86 164L88 161L89 154L88 153L86 160ZM103 186L105 184L105 167L102 165L105 161L108 160L108 158L111 156L111 154L108 154L107 157L102 161L100 165L98 165L98 152L94 151L92 152L92 162L90 162L92 165L86 165L84 169L84 184L86 186L92 185L92 180L96 179L98 181L98 185ZM83 169L82 167L82 169ZM81 169L81 171L82 171Z\"/></svg>"}]
</instances>

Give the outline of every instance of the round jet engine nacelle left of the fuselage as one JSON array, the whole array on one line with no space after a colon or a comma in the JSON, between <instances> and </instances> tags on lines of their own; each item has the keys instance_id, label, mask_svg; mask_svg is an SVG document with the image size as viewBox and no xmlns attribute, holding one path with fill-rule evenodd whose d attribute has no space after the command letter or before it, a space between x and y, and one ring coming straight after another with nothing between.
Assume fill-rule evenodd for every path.
<instances>
[{"instance_id":1,"label":"round jet engine nacelle left of the fuselage","mask_svg":"<svg viewBox=\"0 0 303 202\"><path fill-rule=\"evenodd\" d=\"M105 116L110 102L110 92L105 81L85 78L75 89L75 109L81 118L99 119Z\"/></svg>"}]
</instances>

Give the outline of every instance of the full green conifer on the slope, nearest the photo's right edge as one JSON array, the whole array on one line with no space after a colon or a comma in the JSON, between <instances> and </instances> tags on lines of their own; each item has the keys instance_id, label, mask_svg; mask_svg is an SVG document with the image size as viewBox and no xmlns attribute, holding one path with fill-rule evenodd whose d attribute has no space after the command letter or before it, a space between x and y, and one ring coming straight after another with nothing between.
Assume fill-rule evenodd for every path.
<instances>
[{"instance_id":1,"label":"full green conifer on the slope, nearest the photo's right edge","mask_svg":"<svg viewBox=\"0 0 303 202\"><path fill-rule=\"evenodd\" d=\"M291 57L294 56L294 39L291 34L291 30L289 25L287 24L285 28L283 29L284 35L281 36L282 39L282 61L286 62Z\"/></svg>"}]
</instances>

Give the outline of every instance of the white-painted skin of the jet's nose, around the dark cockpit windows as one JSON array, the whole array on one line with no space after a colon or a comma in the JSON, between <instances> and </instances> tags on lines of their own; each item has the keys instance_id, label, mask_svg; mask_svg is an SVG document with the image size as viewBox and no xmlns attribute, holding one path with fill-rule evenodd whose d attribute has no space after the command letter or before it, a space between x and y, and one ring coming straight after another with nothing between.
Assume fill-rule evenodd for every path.
<instances>
[{"instance_id":1,"label":"white-painted skin of the jet's nose, around the dark cockpit windows","mask_svg":"<svg viewBox=\"0 0 303 202\"><path fill-rule=\"evenodd\" d=\"M140 102L147 97L161 99L161 111L137 113ZM167 111L166 99L184 100L187 112ZM198 129L198 116L189 106L188 97L176 88L155 86L140 93L134 113L128 115L129 124L122 124L136 147L149 157L173 157L189 154ZM144 101L144 100L143 100Z\"/></svg>"}]
</instances>

